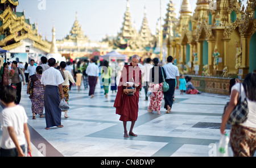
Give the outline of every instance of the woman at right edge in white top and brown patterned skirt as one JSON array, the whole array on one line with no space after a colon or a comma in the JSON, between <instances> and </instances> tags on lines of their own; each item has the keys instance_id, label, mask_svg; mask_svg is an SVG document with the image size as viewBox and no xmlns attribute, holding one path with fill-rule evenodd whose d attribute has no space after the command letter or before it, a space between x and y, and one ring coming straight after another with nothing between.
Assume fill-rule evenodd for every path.
<instances>
[{"instance_id":1,"label":"woman at right edge in white top and brown patterned skirt","mask_svg":"<svg viewBox=\"0 0 256 168\"><path fill-rule=\"evenodd\" d=\"M243 123L233 124L230 132L230 145L234 156L254 156L256 150L256 74L250 73L245 77L243 84L237 83L232 87L230 102L222 117L221 134L225 134L226 123L230 114L241 101L247 101L246 120Z\"/></svg>"}]
</instances>

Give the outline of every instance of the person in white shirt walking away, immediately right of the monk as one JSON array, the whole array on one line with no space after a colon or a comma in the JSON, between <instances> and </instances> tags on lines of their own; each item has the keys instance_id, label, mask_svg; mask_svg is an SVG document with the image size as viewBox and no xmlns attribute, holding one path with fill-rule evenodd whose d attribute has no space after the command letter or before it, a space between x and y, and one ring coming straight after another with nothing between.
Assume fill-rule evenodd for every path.
<instances>
[{"instance_id":1,"label":"person in white shirt walking away, immediately right of the monk","mask_svg":"<svg viewBox=\"0 0 256 168\"><path fill-rule=\"evenodd\" d=\"M145 90L145 100L147 101L148 84L150 82L150 69L153 67L151 64L151 58L146 59L146 64L143 66L143 88ZM152 76L151 76L152 78Z\"/></svg>"}]
</instances>

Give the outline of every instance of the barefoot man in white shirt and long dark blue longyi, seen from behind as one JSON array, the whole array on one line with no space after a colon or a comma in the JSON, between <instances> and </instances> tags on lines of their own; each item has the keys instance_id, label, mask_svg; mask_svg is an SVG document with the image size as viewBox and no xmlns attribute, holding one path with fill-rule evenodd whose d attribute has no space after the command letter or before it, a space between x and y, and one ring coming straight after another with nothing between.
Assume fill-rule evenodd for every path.
<instances>
[{"instance_id":1,"label":"barefoot man in white shirt and long dark blue longyi, seen from behind","mask_svg":"<svg viewBox=\"0 0 256 168\"><path fill-rule=\"evenodd\" d=\"M44 86L44 109L46 111L46 130L49 127L61 125L60 98L64 98L62 83L63 77L59 70L54 68L56 60L48 60L49 68L44 71L41 77L41 84ZM61 93L61 94L60 94Z\"/></svg>"}]
</instances>

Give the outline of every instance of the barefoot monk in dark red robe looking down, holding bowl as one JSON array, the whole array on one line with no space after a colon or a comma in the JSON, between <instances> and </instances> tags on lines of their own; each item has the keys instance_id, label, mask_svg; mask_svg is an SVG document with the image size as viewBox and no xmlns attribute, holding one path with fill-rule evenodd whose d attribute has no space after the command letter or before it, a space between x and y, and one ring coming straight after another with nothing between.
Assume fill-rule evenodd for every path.
<instances>
[{"instance_id":1,"label":"barefoot monk in dark red robe looking down, holding bowl","mask_svg":"<svg viewBox=\"0 0 256 168\"><path fill-rule=\"evenodd\" d=\"M115 113L121 115L120 119L123 122L123 128L125 130L124 137L137 136L133 133L133 127L135 121L138 118L139 111L139 89L142 87L141 83L141 69L138 66L139 56L133 55L130 65L125 65L120 77L117 96L115 97L114 107ZM136 92L133 96L128 96L123 93L123 88L129 86L126 82L134 83L133 87L136 88ZM127 121L131 121L131 128L129 133L126 130Z\"/></svg>"}]
</instances>

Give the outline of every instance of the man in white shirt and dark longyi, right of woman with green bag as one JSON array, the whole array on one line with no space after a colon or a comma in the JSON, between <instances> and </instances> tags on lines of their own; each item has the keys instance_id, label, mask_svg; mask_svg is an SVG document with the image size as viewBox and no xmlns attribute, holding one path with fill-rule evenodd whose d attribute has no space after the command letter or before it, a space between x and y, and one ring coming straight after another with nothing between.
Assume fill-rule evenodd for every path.
<instances>
[{"instance_id":1,"label":"man in white shirt and dark longyi, right of woman with green bag","mask_svg":"<svg viewBox=\"0 0 256 168\"><path fill-rule=\"evenodd\" d=\"M172 64L174 58L172 56L167 57L167 64L163 66L164 71L166 72L166 82L169 84L169 90L164 92L164 108L167 110L167 113L171 112L173 98L175 91L175 79L176 79L176 89L179 89L179 69L177 66Z\"/></svg>"}]
</instances>

